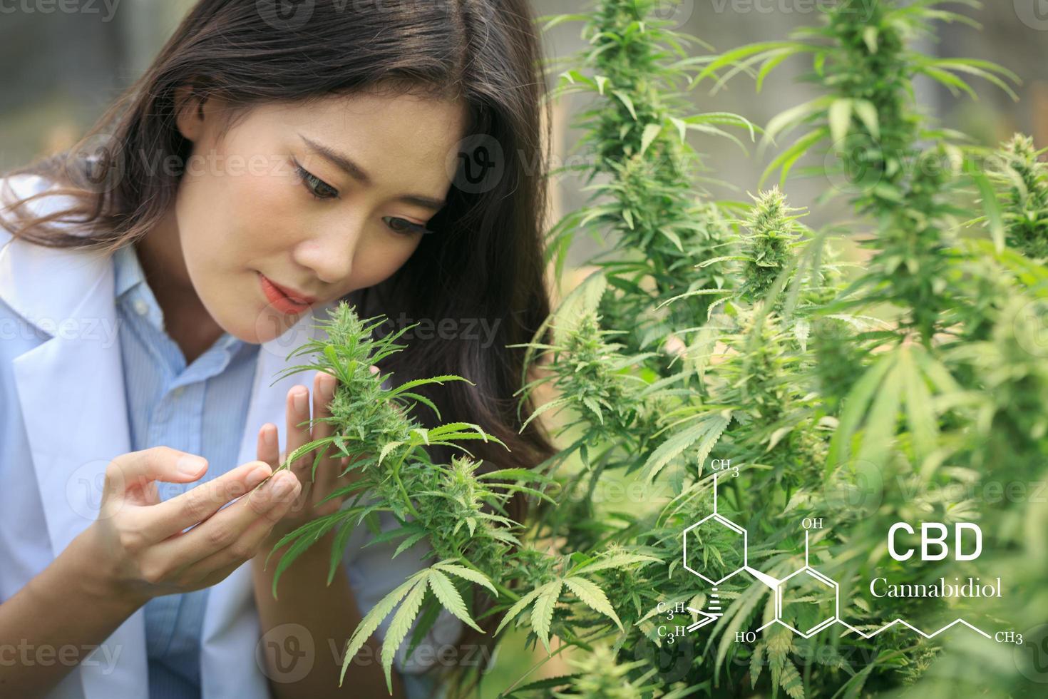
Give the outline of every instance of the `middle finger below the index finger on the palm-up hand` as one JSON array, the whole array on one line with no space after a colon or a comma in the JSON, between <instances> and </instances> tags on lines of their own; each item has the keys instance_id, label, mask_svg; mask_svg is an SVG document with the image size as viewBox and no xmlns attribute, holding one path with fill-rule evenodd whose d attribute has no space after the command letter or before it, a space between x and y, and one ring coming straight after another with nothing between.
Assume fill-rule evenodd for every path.
<instances>
[{"instance_id":1,"label":"middle finger below the index finger on the palm-up hand","mask_svg":"<svg viewBox=\"0 0 1048 699\"><path fill-rule=\"evenodd\" d=\"M266 520L276 524L302 489L294 474L280 471L231 506L216 512L179 537L167 539L150 550L155 561L184 568L232 545L253 523ZM161 564L162 565L162 564Z\"/></svg>"}]
</instances>

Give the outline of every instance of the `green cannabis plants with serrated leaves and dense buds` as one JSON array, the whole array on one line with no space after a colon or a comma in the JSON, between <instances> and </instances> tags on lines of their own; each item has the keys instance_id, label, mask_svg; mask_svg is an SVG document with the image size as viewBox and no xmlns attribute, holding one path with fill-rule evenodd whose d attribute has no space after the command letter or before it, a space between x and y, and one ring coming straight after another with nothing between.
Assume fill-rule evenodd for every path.
<instances>
[{"instance_id":1,"label":"green cannabis plants with serrated leaves and dense buds","mask_svg":"<svg viewBox=\"0 0 1048 699\"><path fill-rule=\"evenodd\" d=\"M385 511L398 526L378 541L433 551L427 569L362 621L347 664L392 615L381 656L389 673L412 625L418 636L443 608L496 640L518 628L532 649L568 656L571 674L525 676L498 687L504 696L1008 697L1028 689L1010 650L981 637L961 642L963 627L934 638L883 629L903 618L936 630L961 617L1021 631L1048 613L1039 592L1048 516L1032 497L987 506L986 490L1005 476L1025 484L1046 476L1046 170L1030 140L1017 137L984 174L963 134L916 109L919 75L960 94L973 92L965 77L1010 92L1003 68L916 50L936 22L975 24L947 4L978 7L840 0L821 5L822 23L789 40L719 56L689 56L695 42L652 17L654 0L598 0L591 13L549 18L547 26L581 22L588 42L560 72L556 94L592 100L576 126L592 158L583 174L597 182L550 231L558 274L578 231L606 242L596 271L526 346L528 365L546 362L538 378L522 375L520 397L540 386L552 397L522 422L547 420L563 447L533 471L482 474L466 456L433 463L427 443L490 437L474 424L419 428L409 402L424 401L411 392L418 381L384 389L367 371L401 349L395 337L371 340L370 320L340 309L329 341L307 348L315 362L296 370L340 376L331 442L357 459L350 467L359 478L343 510L282 544L293 551L335 526L345 537ZM683 92L739 74L760 89L790 59L810 60L805 80L823 94L763 130L769 144L802 130L767 174L818 176L830 194L846 195L858 218L832 230L804 226L803 210L778 188L743 204L711 201L696 184L702 163L690 136L762 130L724 112L689 114ZM816 153L822 165L798 167ZM978 235L959 235L962 221L978 223ZM839 234L855 233L865 260L840 262ZM547 329L552 340L539 343ZM717 511L746 528L748 566L782 580L810 559L838 583L847 626L794 635L773 622L771 589L743 570L719 586L724 613L715 624L673 643L659 634L659 603L707 602L708 586L683 566L683 531L714 511L712 458L739 467L719 479ZM602 497L611 485L633 489L625 500ZM527 522L507 516L515 493L531 500ZM810 542L799 526L806 517L825 522ZM985 550L976 563L902 565L885 545L900 521L977 521ZM702 565L730 572L732 538L703 531ZM907 584L980 573L1005 577L1006 598L865 594L874 575ZM816 586L798 602L818 594ZM678 622L697 619L690 614ZM747 631L758 640L736 642Z\"/></svg>"}]
</instances>

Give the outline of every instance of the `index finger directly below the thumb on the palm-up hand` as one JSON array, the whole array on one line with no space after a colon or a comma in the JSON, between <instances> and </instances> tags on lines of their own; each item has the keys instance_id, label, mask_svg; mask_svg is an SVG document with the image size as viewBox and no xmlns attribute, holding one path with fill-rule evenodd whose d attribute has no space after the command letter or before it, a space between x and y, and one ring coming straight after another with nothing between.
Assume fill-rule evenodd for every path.
<instances>
[{"instance_id":1,"label":"index finger directly below the thumb on the palm-up hand","mask_svg":"<svg viewBox=\"0 0 1048 699\"><path fill-rule=\"evenodd\" d=\"M227 502L241 497L268 478L266 463L248 461L218 478L201 483L163 502L134 512L137 528L150 542L177 536L187 527L212 517Z\"/></svg>"}]
</instances>

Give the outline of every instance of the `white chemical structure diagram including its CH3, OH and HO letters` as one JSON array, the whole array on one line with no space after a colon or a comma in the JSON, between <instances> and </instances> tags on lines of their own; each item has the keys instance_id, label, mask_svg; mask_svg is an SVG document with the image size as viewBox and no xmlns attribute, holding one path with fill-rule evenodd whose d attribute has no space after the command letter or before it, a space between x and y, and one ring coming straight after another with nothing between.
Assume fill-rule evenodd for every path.
<instances>
[{"instance_id":1,"label":"white chemical structure diagram including its CH3, OH and HO letters","mask_svg":"<svg viewBox=\"0 0 1048 699\"><path fill-rule=\"evenodd\" d=\"M825 631L834 626L842 626L845 628L844 633L855 633L863 638L873 638L882 631L890 629L896 625L907 627L908 629L920 634L924 638L934 638L940 633L951 629L955 626L961 625L967 627L968 629L975 631L981 636L989 640L996 640L998 642L1008 642L1022 645L1023 637L1022 634L1016 633L1013 631L999 631L995 635L983 631L982 629L969 624L968 621L957 618L949 624L946 624L942 628L932 631L931 633L922 631L912 624L901 619L896 618L893 621L886 624L885 626L876 629L872 632L864 632L856 629L852 625L840 618L840 590L836 582L824 575L820 571L815 570L810 565L809 560L809 529L822 528L821 520L806 519L802 523L805 529L805 541L804 541L804 566L799 570L793 571L789 575L783 578L777 578L765 572L757 570L749 565L749 533L746 531L745 527L742 527L732 520L727 519L721 515L717 509L717 488L718 479L725 473L730 472L733 477L739 475L738 466L730 466L730 461L723 460L723 465L718 464L719 460L714 460L714 511L698 522L692 524L684 529L683 538L683 563L684 568L687 569L693 574L700 577L706 584L711 586L709 593L707 595L706 609L696 609L695 607L685 606L684 603L677 603L676 605L668 605L667 603L660 603L659 613L665 614L668 621L673 621L675 619L675 614L683 615L684 612L691 612L692 618L695 620L687 626L668 626L663 625L658 627L658 636L673 643L675 638L682 637L684 633L694 633L705 626L715 624L724 614L721 608L721 600L718 586L723 584L725 581L739 575L741 573L748 573L755 580L759 581L763 585L770 588L774 595L774 618L770 621L764 624L756 631L738 632L736 634L737 641L751 642L757 639L757 634L764 631L772 625L780 625L789 629L792 633L802 636L804 638L811 638L815 634ZM734 536L741 548L741 559L738 561L740 565L735 566L735 568L718 580L713 580L708 577L703 570L700 570L701 563L696 551L696 548L701 548L701 541L703 537L708 536L712 532L716 532L720 529L720 533L727 533ZM699 544L698 546L696 544ZM784 610L787 606L795 604L807 604L810 607L815 607L811 604L813 598L822 599L823 607L825 608L825 613L814 612L815 617L809 618L811 621L810 626L805 628L795 628L790 625L788 620L793 618L792 615L784 614ZM800 616L800 615L798 615ZM810 616L810 615L809 615ZM800 625L799 625L800 626Z\"/></svg>"}]
</instances>

